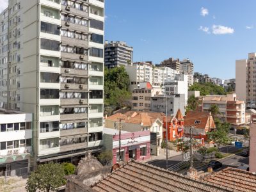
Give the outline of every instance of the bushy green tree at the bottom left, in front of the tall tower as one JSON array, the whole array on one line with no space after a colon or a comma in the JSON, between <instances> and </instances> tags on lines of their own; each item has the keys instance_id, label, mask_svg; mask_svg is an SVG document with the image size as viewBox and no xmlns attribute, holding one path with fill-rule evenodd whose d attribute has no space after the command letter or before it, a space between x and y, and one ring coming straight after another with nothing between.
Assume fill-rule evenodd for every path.
<instances>
[{"instance_id":1,"label":"bushy green tree at the bottom left, in front of the tall tower","mask_svg":"<svg viewBox=\"0 0 256 192\"><path fill-rule=\"evenodd\" d=\"M58 163L40 164L36 171L29 175L26 189L29 192L56 191L63 185L64 168Z\"/></svg>"}]
</instances>

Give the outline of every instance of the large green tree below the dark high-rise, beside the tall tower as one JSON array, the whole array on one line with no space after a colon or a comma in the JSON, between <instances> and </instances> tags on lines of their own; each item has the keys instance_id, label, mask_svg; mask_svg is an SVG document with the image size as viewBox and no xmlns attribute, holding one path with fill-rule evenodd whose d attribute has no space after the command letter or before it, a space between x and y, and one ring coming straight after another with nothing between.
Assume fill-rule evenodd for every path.
<instances>
[{"instance_id":1,"label":"large green tree below the dark high-rise, beside the tall tower","mask_svg":"<svg viewBox=\"0 0 256 192\"><path fill-rule=\"evenodd\" d=\"M106 106L124 106L131 99L129 76L124 67L105 68L104 102Z\"/></svg>"}]
</instances>

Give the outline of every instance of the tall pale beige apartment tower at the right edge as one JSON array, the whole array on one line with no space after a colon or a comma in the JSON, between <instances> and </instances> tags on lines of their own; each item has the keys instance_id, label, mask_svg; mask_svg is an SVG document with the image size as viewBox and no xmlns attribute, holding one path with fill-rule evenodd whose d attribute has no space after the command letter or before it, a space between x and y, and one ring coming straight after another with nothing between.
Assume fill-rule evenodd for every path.
<instances>
[{"instance_id":1,"label":"tall pale beige apartment tower at the right edge","mask_svg":"<svg viewBox=\"0 0 256 192\"><path fill-rule=\"evenodd\" d=\"M236 94L248 108L256 108L256 52L248 60L236 60Z\"/></svg>"}]
</instances>

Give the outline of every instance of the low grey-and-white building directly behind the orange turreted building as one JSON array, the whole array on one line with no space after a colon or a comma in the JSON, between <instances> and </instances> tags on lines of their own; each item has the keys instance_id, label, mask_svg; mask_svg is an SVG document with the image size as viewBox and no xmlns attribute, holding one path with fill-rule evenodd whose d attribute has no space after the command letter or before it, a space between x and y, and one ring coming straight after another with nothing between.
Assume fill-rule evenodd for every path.
<instances>
[{"instance_id":1,"label":"low grey-and-white building directly behind the orange turreted building","mask_svg":"<svg viewBox=\"0 0 256 192\"><path fill-rule=\"evenodd\" d=\"M166 113L166 98L167 98L167 113L174 116L180 109L182 115L185 115L185 95L154 95L151 97L151 111Z\"/></svg>"}]
</instances>

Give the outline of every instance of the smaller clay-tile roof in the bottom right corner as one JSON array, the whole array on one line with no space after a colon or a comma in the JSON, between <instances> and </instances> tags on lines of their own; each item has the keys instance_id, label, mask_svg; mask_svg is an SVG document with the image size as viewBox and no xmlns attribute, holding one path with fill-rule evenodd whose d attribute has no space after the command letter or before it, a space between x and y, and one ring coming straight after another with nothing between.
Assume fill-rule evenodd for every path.
<instances>
[{"instance_id":1,"label":"smaller clay-tile roof in the bottom right corner","mask_svg":"<svg viewBox=\"0 0 256 192\"><path fill-rule=\"evenodd\" d=\"M225 168L204 178L212 184L225 186L234 191L256 191L256 175L236 168Z\"/></svg>"}]
</instances>

